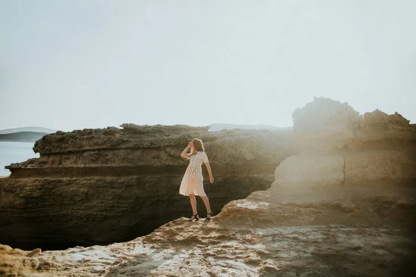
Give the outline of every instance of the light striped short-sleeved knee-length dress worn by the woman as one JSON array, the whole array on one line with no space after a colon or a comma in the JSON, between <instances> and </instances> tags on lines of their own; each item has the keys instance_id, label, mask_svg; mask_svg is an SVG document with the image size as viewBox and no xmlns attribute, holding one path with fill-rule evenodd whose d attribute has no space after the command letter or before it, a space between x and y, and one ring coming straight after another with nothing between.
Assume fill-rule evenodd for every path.
<instances>
[{"instance_id":1,"label":"light striped short-sleeved knee-length dress worn by the woman","mask_svg":"<svg viewBox=\"0 0 416 277\"><path fill-rule=\"evenodd\" d=\"M181 195L199 195L207 196L204 191L202 177L202 163L208 163L208 157L205 152L197 152L188 157L189 166L180 183L179 193Z\"/></svg>"}]
</instances>

